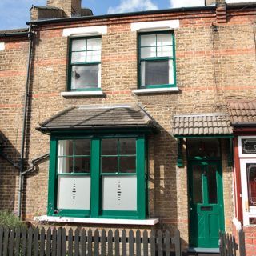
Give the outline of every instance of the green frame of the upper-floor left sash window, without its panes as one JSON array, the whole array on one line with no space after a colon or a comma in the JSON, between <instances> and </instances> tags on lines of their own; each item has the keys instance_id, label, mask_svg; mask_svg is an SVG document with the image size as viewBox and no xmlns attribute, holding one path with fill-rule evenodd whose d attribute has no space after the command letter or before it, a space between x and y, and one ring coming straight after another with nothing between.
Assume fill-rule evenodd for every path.
<instances>
[{"instance_id":1,"label":"green frame of the upper-floor left sash window, without its panes","mask_svg":"<svg viewBox=\"0 0 256 256\"><path fill-rule=\"evenodd\" d=\"M101 62L87 62L87 52L93 52L97 50L87 50L87 40L88 39L101 39L100 36L88 36L88 37L75 37L75 38L69 38L69 64L68 64L68 84L67 84L67 90L68 91L95 91L95 90L102 90L101 89ZM86 40L86 50L80 50L80 52L86 52L86 59L85 62L74 62L72 63L72 53L79 52L79 50L73 51L72 50L72 42L75 40ZM102 51L102 47L100 49ZM97 88L72 88L71 80L72 80L72 67L73 66L90 66L90 65L98 65L98 86ZM93 86L93 85L92 85Z\"/></svg>"}]
</instances>

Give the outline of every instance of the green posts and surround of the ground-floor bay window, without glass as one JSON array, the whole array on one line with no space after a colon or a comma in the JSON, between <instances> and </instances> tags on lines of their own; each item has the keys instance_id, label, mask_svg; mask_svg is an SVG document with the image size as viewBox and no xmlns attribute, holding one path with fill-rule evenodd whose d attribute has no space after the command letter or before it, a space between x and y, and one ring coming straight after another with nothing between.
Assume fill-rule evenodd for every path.
<instances>
[{"instance_id":1,"label":"green posts and surround of the ground-floor bay window, without glass","mask_svg":"<svg viewBox=\"0 0 256 256\"><path fill-rule=\"evenodd\" d=\"M90 210L57 210L58 196L58 140L90 138ZM104 138L135 138L136 139L136 178L137 178L137 210L102 210L102 177L106 175L101 171L101 141ZM68 174L64 174L68 175ZM75 175L75 174L74 174ZM130 174L120 174L129 176ZM134 173L133 173L134 175ZM147 184L146 184L146 137L144 134L120 134L84 136L74 134L74 136L64 134L52 134L50 139L50 171L48 189L48 212L49 216L65 216L77 218L130 218L145 219L147 209Z\"/></svg>"}]
</instances>

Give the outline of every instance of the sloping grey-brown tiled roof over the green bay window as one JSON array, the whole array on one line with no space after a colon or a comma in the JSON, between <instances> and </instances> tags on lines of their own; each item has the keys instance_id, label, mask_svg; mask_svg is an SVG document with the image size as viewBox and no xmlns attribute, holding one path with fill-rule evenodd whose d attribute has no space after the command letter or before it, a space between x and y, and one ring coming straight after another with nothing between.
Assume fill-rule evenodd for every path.
<instances>
[{"instance_id":1,"label":"sloping grey-brown tiled roof over the green bay window","mask_svg":"<svg viewBox=\"0 0 256 256\"><path fill-rule=\"evenodd\" d=\"M37 130L102 129L102 128L156 129L154 119L138 105L94 105L70 107L42 122Z\"/></svg>"}]
</instances>

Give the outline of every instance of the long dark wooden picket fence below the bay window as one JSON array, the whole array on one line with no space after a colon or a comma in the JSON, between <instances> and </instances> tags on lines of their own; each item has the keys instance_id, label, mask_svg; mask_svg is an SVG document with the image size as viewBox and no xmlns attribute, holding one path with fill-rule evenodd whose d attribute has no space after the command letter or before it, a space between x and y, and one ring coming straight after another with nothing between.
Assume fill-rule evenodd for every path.
<instances>
[{"instance_id":1,"label":"long dark wooden picket fence below the bay window","mask_svg":"<svg viewBox=\"0 0 256 256\"><path fill-rule=\"evenodd\" d=\"M66 230L10 229L0 226L0 255L90 256L90 255L170 255L181 256L180 233L170 237L167 230Z\"/></svg>"}]
</instances>

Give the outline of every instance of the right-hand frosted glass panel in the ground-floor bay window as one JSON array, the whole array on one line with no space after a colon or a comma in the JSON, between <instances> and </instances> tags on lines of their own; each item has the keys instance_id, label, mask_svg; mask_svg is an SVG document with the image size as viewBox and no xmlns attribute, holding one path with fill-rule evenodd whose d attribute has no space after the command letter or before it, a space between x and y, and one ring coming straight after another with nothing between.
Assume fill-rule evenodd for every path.
<instances>
[{"instance_id":1,"label":"right-hand frosted glass panel in the ground-floor bay window","mask_svg":"<svg viewBox=\"0 0 256 256\"><path fill-rule=\"evenodd\" d=\"M137 178L103 177L102 210L137 210Z\"/></svg>"}]
</instances>

